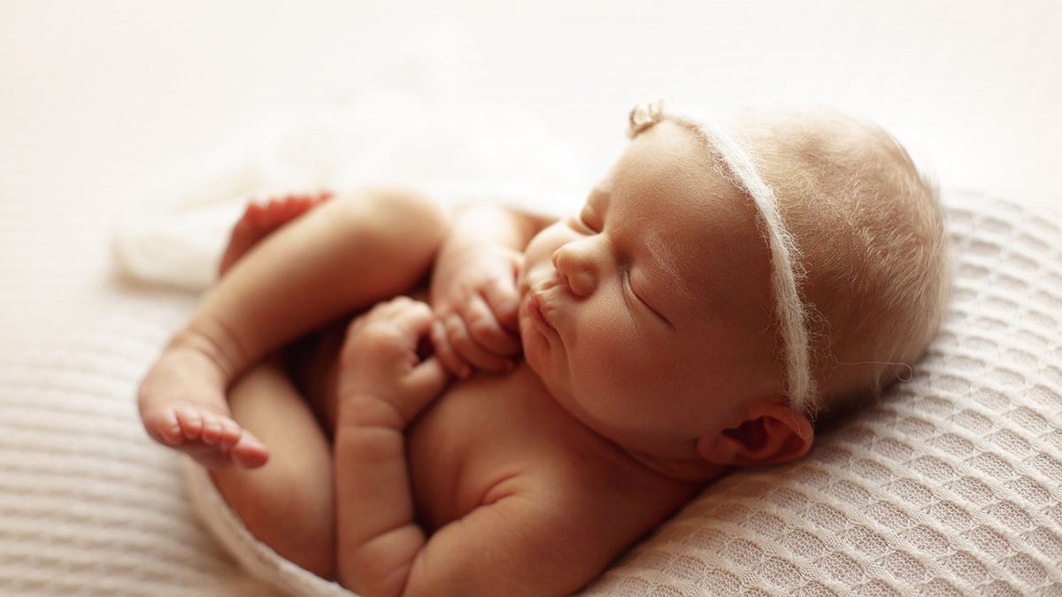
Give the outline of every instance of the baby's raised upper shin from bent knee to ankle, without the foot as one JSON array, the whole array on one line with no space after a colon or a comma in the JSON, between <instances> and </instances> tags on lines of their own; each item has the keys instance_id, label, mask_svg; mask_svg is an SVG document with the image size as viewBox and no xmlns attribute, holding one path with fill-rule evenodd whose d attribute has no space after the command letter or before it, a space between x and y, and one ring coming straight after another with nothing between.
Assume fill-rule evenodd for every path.
<instances>
[{"instance_id":1,"label":"baby's raised upper shin from bent knee to ankle, without the foot","mask_svg":"<svg viewBox=\"0 0 1062 597\"><path fill-rule=\"evenodd\" d=\"M232 381L298 336L408 291L430 266L444 218L429 201L402 191L323 203L239 261L178 341L198 342Z\"/></svg>"}]
</instances>

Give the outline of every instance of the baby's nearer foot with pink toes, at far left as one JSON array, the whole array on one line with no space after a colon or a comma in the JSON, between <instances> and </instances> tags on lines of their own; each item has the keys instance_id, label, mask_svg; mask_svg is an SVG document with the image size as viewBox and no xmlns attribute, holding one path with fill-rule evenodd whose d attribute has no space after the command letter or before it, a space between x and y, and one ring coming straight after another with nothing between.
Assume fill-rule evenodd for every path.
<instances>
[{"instance_id":1,"label":"baby's nearer foot with pink toes, at far left","mask_svg":"<svg viewBox=\"0 0 1062 597\"><path fill-rule=\"evenodd\" d=\"M233 420L217 369L188 347L169 347L140 385L140 417L158 443L211 468L266 464L269 449Z\"/></svg>"}]
</instances>

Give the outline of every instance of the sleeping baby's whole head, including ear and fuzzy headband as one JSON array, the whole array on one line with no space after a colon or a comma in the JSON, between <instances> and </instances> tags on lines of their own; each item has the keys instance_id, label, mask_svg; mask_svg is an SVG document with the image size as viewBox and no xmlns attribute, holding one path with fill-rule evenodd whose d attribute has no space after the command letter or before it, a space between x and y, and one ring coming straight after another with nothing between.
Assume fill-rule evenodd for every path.
<instances>
[{"instance_id":1,"label":"sleeping baby's whole head, including ear and fuzzy headband","mask_svg":"<svg viewBox=\"0 0 1062 597\"><path fill-rule=\"evenodd\" d=\"M636 112L520 279L525 355L559 403L695 475L802 455L816 415L921 355L947 293L936 194L891 136L829 113L734 131Z\"/></svg>"}]
</instances>

